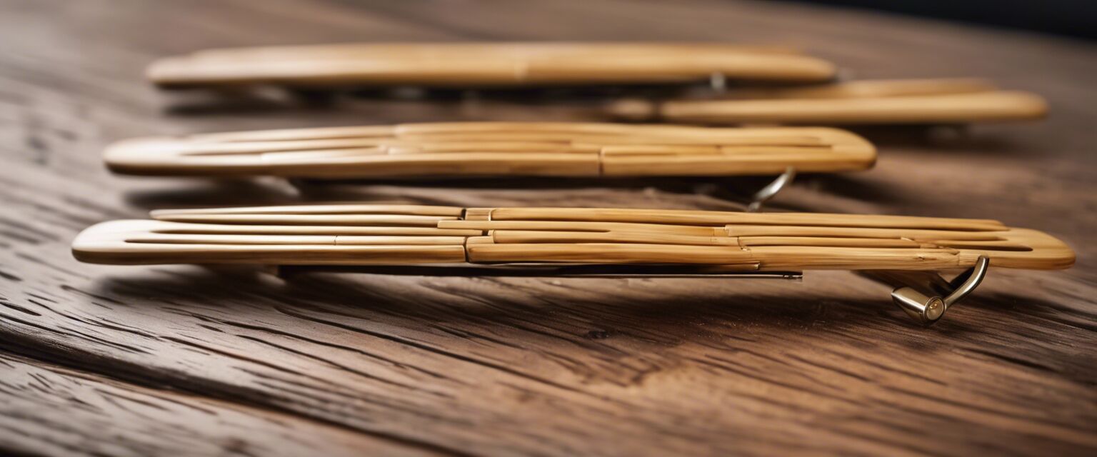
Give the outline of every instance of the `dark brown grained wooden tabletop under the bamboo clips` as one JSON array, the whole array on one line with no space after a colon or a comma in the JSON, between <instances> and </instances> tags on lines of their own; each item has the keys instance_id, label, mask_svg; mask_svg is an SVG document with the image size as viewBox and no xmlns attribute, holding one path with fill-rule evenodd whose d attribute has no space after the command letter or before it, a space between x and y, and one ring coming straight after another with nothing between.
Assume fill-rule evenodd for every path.
<instances>
[{"instance_id":1,"label":"dark brown grained wooden tabletop under the bamboo clips","mask_svg":"<svg viewBox=\"0 0 1097 457\"><path fill-rule=\"evenodd\" d=\"M0 4L0 454L1093 455L1097 47L794 4L44 1ZM596 121L566 94L157 94L200 48L352 41L800 44L863 78L987 77L1040 124L860 130L877 169L783 209L992 218L1077 252L992 270L939 324L846 272L804 284L306 274L80 264L84 227L151 207L369 198L735 209L757 180L213 184L110 175L113 140L430 121ZM557 103L548 103L557 102ZM746 184L744 184L744 182ZM122 398L124 397L124 398Z\"/></svg>"}]
</instances>

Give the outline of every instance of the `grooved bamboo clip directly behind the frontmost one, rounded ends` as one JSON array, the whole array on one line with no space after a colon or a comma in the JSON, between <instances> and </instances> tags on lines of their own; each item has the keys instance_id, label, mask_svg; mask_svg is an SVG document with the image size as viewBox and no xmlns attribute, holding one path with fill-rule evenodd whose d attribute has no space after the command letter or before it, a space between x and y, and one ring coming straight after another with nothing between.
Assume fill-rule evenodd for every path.
<instances>
[{"instance_id":1,"label":"grooved bamboo clip directly behind the frontmost one, rounded ends","mask_svg":"<svg viewBox=\"0 0 1097 457\"><path fill-rule=\"evenodd\" d=\"M833 128L497 122L136 138L103 158L124 174L385 179L842 172L872 167L877 155Z\"/></svg>"}]
</instances>

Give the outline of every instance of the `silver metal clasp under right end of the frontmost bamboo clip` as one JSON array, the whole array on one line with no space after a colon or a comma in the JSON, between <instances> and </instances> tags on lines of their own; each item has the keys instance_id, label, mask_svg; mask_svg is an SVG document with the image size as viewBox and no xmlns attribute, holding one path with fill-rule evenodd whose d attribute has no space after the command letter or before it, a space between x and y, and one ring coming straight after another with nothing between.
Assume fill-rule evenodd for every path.
<instances>
[{"instance_id":1,"label":"silver metal clasp under right end of the frontmost bamboo clip","mask_svg":"<svg viewBox=\"0 0 1097 457\"><path fill-rule=\"evenodd\" d=\"M975 266L968 269L952 281L946 281L932 272L869 271L862 275L894 286L892 301L904 312L924 325L937 322L952 305L955 305L986 277L991 259L980 255Z\"/></svg>"}]
</instances>

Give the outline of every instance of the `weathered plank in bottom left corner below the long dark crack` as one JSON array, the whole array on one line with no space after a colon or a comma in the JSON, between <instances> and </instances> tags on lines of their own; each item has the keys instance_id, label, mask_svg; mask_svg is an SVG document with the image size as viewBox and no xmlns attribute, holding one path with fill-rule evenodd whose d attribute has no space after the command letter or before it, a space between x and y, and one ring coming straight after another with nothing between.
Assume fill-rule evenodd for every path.
<instances>
[{"instance_id":1,"label":"weathered plank in bottom left corner below the long dark crack","mask_svg":"<svg viewBox=\"0 0 1097 457\"><path fill-rule=\"evenodd\" d=\"M434 455L298 416L0 354L0 446L79 456ZM152 419L152 420L150 420ZM279 439L269 439L270 437Z\"/></svg>"}]
</instances>

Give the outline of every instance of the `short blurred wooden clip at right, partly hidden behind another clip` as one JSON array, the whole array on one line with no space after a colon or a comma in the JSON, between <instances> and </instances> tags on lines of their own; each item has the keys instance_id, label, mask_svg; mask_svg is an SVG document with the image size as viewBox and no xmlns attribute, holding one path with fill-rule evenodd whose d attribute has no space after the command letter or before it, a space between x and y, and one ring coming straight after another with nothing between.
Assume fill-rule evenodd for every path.
<instances>
[{"instance_id":1,"label":"short blurred wooden clip at right, partly hidden behind another clip","mask_svg":"<svg viewBox=\"0 0 1097 457\"><path fill-rule=\"evenodd\" d=\"M611 115L702 124L965 124L1038 119L1043 98L981 79L850 81L743 89L722 99L624 100Z\"/></svg>"}]
</instances>

